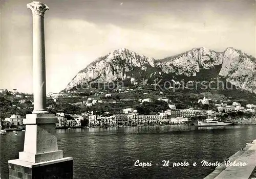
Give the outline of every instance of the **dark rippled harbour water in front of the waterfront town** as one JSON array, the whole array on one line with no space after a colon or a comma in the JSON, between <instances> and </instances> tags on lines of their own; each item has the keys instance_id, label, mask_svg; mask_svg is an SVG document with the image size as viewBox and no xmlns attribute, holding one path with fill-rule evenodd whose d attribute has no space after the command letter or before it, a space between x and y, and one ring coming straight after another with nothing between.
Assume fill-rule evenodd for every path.
<instances>
[{"instance_id":1,"label":"dark rippled harbour water in front of the waterfront town","mask_svg":"<svg viewBox=\"0 0 256 179\"><path fill-rule=\"evenodd\" d=\"M0 136L1 177L8 178L7 161L23 150L24 132ZM197 127L189 125L109 127L56 130L59 149L74 158L74 178L203 178L215 167L200 162L223 161L256 138L256 126ZM152 167L135 167L136 160ZM170 166L163 167L162 161ZM188 162L175 167L173 162ZM193 167L197 162L198 166ZM158 163L159 165L155 165Z\"/></svg>"}]
</instances>

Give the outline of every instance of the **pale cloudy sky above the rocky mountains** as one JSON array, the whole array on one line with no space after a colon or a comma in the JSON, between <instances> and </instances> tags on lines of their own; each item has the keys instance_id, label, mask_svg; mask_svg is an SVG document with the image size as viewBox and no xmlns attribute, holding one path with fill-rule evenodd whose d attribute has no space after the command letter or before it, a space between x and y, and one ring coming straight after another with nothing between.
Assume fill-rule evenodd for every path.
<instances>
[{"instance_id":1,"label":"pale cloudy sky above the rocky mountains","mask_svg":"<svg viewBox=\"0 0 256 179\"><path fill-rule=\"evenodd\" d=\"M0 0L0 89L33 92L30 1ZM255 0L44 0L47 92L128 48L162 59L206 47L256 57Z\"/></svg>"}]
</instances>

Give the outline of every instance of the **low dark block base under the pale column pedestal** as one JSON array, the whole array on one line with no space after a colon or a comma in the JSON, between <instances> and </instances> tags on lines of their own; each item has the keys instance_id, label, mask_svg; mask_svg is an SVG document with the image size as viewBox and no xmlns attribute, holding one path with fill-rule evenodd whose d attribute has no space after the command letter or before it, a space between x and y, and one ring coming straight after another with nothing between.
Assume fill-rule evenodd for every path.
<instances>
[{"instance_id":1,"label":"low dark block base under the pale column pedestal","mask_svg":"<svg viewBox=\"0 0 256 179\"><path fill-rule=\"evenodd\" d=\"M73 179L73 158L67 157L40 163L8 161L9 179Z\"/></svg>"}]
</instances>

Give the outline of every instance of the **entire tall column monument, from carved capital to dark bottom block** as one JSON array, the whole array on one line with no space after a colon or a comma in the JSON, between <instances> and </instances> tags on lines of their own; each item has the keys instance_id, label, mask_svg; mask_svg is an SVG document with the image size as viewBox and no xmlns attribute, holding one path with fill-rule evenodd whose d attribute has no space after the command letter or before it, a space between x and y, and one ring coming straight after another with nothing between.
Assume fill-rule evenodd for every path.
<instances>
[{"instance_id":1,"label":"entire tall column monument, from carved capital to dark bottom block","mask_svg":"<svg viewBox=\"0 0 256 179\"><path fill-rule=\"evenodd\" d=\"M27 5L33 14L33 93L34 111L27 114L24 151L8 161L9 178L73 178L73 158L63 158L55 134L57 118L46 110L46 68L44 13L41 2Z\"/></svg>"}]
</instances>

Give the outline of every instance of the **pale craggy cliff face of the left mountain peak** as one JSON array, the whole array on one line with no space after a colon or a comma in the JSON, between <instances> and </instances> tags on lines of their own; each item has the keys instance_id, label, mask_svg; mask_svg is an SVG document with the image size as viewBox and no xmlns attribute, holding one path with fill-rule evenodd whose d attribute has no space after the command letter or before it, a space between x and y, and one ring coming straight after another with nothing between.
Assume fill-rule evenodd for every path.
<instances>
[{"instance_id":1,"label":"pale craggy cliff face of the left mountain peak","mask_svg":"<svg viewBox=\"0 0 256 179\"><path fill-rule=\"evenodd\" d=\"M155 60L153 58L139 55L125 48L113 50L79 71L68 84L66 90L91 81L114 82L131 79L133 77L132 71L146 70L148 67L154 66Z\"/></svg>"}]
</instances>

